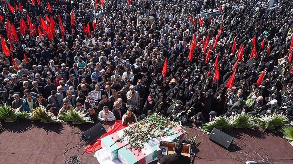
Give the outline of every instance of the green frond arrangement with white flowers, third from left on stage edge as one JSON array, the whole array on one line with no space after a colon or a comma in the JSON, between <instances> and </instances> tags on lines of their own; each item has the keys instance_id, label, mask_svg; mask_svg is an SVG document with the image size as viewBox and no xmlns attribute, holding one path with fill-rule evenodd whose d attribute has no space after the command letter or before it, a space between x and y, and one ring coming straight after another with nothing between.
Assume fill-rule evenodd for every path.
<instances>
[{"instance_id":1,"label":"green frond arrangement with white flowers, third from left on stage edge","mask_svg":"<svg viewBox=\"0 0 293 164\"><path fill-rule=\"evenodd\" d=\"M71 110L60 115L60 119L64 121L71 121L72 124L94 123L90 117L86 117L87 113Z\"/></svg>"}]
</instances>

